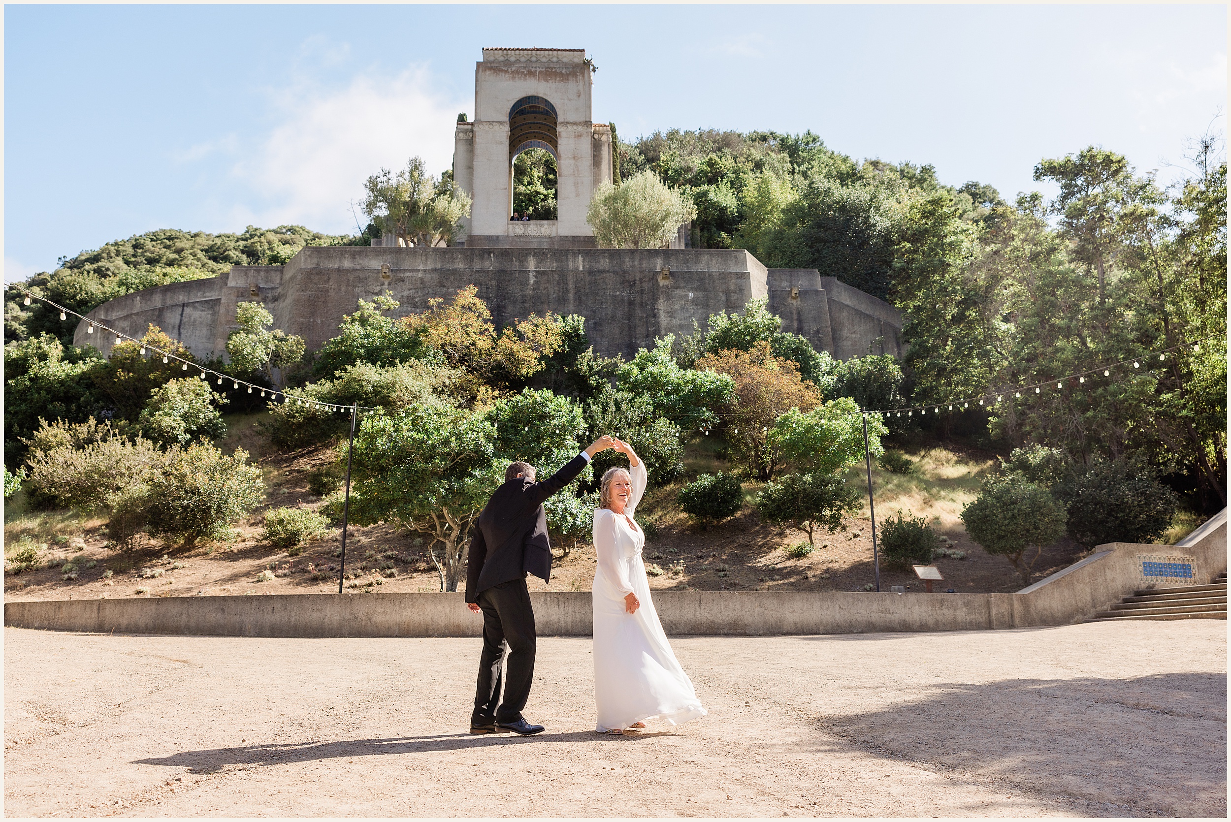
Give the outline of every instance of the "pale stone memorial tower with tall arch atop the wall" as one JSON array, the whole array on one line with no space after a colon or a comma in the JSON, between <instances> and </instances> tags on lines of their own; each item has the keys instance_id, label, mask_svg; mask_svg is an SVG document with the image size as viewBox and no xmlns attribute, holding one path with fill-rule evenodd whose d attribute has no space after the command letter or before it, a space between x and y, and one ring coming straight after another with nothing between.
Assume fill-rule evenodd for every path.
<instances>
[{"instance_id":1,"label":"pale stone memorial tower with tall arch atop the wall","mask_svg":"<svg viewBox=\"0 0 1231 822\"><path fill-rule=\"evenodd\" d=\"M474 75L474 122L454 132L453 178L474 198L459 245L593 247L586 209L612 178L612 135L591 119L586 50L485 48ZM532 148L555 158L558 219L510 221L513 160Z\"/></svg>"}]
</instances>

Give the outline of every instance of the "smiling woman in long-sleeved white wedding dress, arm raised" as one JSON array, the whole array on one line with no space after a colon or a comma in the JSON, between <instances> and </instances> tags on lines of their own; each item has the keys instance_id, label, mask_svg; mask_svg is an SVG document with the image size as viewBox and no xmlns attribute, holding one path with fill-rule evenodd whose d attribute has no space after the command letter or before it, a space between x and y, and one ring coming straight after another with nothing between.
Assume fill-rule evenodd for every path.
<instances>
[{"instance_id":1,"label":"smiling woman in long-sleeved white wedding dress, arm raised","mask_svg":"<svg viewBox=\"0 0 1231 822\"><path fill-rule=\"evenodd\" d=\"M623 733L645 722L681 725L705 715L688 674L671 652L641 562L645 534L633 519L645 493L645 464L616 439L632 471L603 474L595 512L595 703L599 733Z\"/></svg>"}]
</instances>

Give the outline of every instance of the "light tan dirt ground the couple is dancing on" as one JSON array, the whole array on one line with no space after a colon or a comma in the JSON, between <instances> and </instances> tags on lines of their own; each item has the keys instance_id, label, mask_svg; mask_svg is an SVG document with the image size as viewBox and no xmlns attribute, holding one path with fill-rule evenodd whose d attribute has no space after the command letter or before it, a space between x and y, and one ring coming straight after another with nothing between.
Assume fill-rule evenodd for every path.
<instances>
[{"instance_id":1,"label":"light tan dirt ground the couple is dancing on","mask_svg":"<svg viewBox=\"0 0 1231 822\"><path fill-rule=\"evenodd\" d=\"M1226 625L672 640L709 716L593 732L542 639L545 733L469 736L478 640L5 629L6 816L1209 816Z\"/></svg>"}]
</instances>

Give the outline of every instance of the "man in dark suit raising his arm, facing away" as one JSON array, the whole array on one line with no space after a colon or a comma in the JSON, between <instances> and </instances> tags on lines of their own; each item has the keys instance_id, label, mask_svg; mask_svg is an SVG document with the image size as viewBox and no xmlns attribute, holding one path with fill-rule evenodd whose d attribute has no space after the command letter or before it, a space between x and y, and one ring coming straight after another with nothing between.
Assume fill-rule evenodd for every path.
<instances>
[{"instance_id":1,"label":"man in dark suit raising his arm, facing away","mask_svg":"<svg viewBox=\"0 0 1231 822\"><path fill-rule=\"evenodd\" d=\"M533 573L544 582L551 578L551 545L543 501L577 479L595 454L613 445L611 437L599 437L542 482L534 481L532 465L513 463L505 469L503 485L479 514L465 578L467 604L470 610L483 613L483 656L470 715L471 733L512 731L529 736L543 731L542 725L531 725L522 716L534 679L537 645L526 575ZM503 666L506 644L508 664Z\"/></svg>"}]
</instances>

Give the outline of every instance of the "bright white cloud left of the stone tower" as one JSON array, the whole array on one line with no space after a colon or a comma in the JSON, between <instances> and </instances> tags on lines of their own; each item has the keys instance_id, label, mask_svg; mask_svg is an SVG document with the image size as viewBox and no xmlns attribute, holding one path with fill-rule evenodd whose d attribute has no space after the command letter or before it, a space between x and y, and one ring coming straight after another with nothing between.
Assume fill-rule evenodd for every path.
<instances>
[{"instance_id":1,"label":"bright white cloud left of the stone tower","mask_svg":"<svg viewBox=\"0 0 1231 822\"><path fill-rule=\"evenodd\" d=\"M433 174L452 165L453 123L469 103L432 86L431 74L414 68L395 76L359 74L341 90L297 82L272 92L281 122L231 169L266 206L239 207L233 215L259 225L353 230L350 202L378 169L401 167L412 155Z\"/></svg>"}]
</instances>

